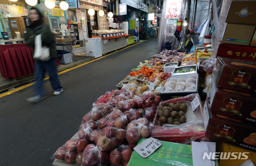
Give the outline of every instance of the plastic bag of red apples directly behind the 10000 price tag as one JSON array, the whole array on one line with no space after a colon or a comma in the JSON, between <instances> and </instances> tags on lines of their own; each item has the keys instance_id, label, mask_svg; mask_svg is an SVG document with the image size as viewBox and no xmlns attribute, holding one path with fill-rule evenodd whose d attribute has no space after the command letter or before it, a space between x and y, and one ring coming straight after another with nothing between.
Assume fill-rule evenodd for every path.
<instances>
[{"instance_id":1,"label":"plastic bag of red apples directly behind the 10000 price tag","mask_svg":"<svg viewBox=\"0 0 256 166\"><path fill-rule=\"evenodd\" d=\"M126 129L126 139L136 145L140 138L148 138L150 135L149 121L147 118L139 118L129 123Z\"/></svg>"}]
</instances>

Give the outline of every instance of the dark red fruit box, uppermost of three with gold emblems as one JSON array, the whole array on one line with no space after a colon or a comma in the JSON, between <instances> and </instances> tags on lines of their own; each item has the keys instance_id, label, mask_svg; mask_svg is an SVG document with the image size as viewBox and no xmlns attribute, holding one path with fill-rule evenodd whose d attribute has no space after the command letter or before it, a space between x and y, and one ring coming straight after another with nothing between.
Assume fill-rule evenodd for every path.
<instances>
[{"instance_id":1,"label":"dark red fruit box, uppermost of three with gold emblems","mask_svg":"<svg viewBox=\"0 0 256 166\"><path fill-rule=\"evenodd\" d=\"M256 94L256 62L217 57L212 75L218 87Z\"/></svg>"}]
</instances>

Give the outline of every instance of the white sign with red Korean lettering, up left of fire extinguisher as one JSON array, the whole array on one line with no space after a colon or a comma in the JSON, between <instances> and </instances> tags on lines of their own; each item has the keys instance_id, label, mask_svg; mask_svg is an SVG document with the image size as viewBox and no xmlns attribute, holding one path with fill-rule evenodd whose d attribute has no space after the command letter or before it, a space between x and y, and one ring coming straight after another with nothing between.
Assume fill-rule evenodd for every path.
<instances>
[{"instance_id":1,"label":"white sign with red Korean lettering, up left of fire extinguisher","mask_svg":"<svg viewBox=\"0 0 256 166\"><path fill-rule=\"evenodd\" d=\"M180 1L166 0L165 19L178 18L180 15Z\"/></svg>"}]
</instances>

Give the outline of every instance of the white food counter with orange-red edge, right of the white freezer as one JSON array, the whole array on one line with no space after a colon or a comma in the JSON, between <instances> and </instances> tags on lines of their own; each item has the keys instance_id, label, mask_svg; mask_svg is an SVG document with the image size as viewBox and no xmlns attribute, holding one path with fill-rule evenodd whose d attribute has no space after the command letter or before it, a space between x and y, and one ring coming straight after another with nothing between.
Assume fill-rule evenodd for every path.
<instances>
[{"instance_id":1,"label":"white food counter with orange-red edge, right of the white freezer","mask_svg":"<svg viewBox=\"0 0 256 166\"><path fill-rule=\"evenodd\" d=\"M121 49L127 46L127 40L130 35L123 35L112 38L103 38L98 36L92 36L92 38L101 38L102 54Z\"/></svg>"}]
</instances>

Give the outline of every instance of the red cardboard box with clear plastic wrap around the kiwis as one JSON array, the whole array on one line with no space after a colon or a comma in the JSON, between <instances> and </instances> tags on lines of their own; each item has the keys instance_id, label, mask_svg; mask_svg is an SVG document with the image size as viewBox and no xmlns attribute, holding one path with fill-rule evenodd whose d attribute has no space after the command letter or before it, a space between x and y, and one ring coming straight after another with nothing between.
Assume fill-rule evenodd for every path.
<instances>
[{"instance_id":1,"label":"red cardboard box with clear plastic wrap around the kiwis","mask_svg":"<svg viewBox=\"0 0 256 166\"><path fill-rule=\"evenodd\" d=\"M192 140L202 139L206 140L203 117L202 105L200 104L195 111L192 111L190 105L195 97L199 97L197 93L184 96L181 98L171 99L163 102L167 103L186 103L188 105L185 116L187 117L186 123L181 125L172 125L172 127L152 126L150 137L167 142L178 142L183 144L191 144ZM156 114L154 118L154 125L157 124L159 116Z\"/></svg>"}]
</instances>

